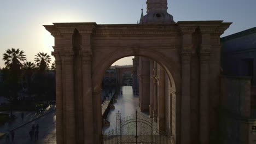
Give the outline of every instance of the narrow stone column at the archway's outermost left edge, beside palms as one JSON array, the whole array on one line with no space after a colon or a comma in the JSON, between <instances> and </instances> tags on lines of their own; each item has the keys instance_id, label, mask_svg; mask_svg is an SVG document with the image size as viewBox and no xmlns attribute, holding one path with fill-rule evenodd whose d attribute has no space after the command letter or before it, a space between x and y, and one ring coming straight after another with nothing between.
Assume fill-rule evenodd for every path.
<instances>
[{"instance_id":1,"label":"narrow stone column at the archway's outermost left edge, beside palms","mask_svg":"<svg viewBox=\"0 0 256 144\"><path fill-rule=\"evenodd\" d=\"M56 139L57 143L64 143L63 130L63 95L62 95L62 65L61 56L53 52L55 57L55 79L56 79Z\"/></svg>"}]
</instances>

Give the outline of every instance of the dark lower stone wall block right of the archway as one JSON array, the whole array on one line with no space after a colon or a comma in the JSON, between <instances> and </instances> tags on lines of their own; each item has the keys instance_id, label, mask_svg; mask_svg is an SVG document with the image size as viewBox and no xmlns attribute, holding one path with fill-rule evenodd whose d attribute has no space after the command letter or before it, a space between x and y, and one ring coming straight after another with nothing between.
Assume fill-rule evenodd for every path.
<instances>
[{"instance_id":1,"label":"dark lower stone wall block right of the archway","mask_svg":"<svg viewBox=\"0 0 256 144\"><path fill-rule=\"evenodd\" d=\"M222 76L220 80L219 140L222 143L252 143L250 77ZM250 120L251 121L251 120Z\"/></svg>"}]
</instances>

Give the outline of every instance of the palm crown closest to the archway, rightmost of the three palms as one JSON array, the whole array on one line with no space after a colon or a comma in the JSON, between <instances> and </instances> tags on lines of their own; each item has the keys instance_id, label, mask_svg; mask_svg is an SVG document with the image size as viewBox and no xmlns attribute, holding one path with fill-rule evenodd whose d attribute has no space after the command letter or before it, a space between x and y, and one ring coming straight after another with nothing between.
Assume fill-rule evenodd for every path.
<instances>
[{"instance_id":1,"label":"palm crown closest to the archway, rightmost of the three palms","mask_svg":"<svg viewBox=\"0 0 256 144\"><path fill-rule=\"evenodd\" d=\"M48 55L47 53L39 52L37 53L36 58L34 58L34 61L39 67L40 71L45 71L46 69L49 68L51 58L50 58L50 55Z\"/></svg>"}]
</instances>

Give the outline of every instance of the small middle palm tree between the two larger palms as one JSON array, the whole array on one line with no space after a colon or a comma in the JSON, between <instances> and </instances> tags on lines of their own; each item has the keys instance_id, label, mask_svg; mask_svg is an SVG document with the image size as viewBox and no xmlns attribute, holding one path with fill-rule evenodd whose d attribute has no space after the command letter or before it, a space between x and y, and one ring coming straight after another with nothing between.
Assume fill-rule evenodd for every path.
<instances>
[{"instance_id":1,"label":"small middle palm tree between the two larger palms","mask_svg":"<svg viewBox=\"0 0 256 144\"><path fill-rule=\"evenodd\" d=\"M31 76L33 75L33 70L36 65L32 62L26 62L23 64L23 69L25 70L25 77L27 81L27 91L28 95L31 96Z\"/></svg>"}]
</instances>

